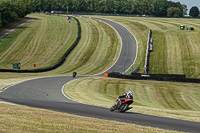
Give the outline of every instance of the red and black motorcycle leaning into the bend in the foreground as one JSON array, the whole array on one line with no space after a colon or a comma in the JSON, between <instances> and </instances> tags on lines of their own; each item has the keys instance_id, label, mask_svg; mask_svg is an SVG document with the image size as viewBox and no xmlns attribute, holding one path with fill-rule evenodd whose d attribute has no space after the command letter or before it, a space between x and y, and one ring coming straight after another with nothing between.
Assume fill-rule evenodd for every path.
<instances>
[{"instance_id":1,"label":"red and black motorcycle leaning into the bend in the foreground","mask_svg":"<svg viewBox=\"0 0 200 133\"><path fill-rule=\"evenodd\" d=\"M110 111L118 110L120 113L124 113L125 111L132 109L133 107L129 107L133 103L133 99L125 99L119 102L119 98L116 99L115 104L110 108Z\"/></svg>"}]
</instances>

